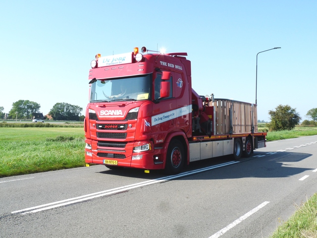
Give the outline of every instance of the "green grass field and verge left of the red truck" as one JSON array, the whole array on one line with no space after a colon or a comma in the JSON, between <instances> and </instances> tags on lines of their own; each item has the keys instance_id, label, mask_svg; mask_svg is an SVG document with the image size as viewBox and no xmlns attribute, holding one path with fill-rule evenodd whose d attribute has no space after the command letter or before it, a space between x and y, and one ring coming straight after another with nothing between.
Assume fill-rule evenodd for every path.
<instances>
[{"instance_id":1,"label":"green grass field and verge left of the red truck","mask_svg":"<svg viewBox=\"0 0 317 238\"><path fill-rule=\"evenodd\" d=\"M0 178L85 165L83 127L0 127Z\"/></svg>"}]
</instances>

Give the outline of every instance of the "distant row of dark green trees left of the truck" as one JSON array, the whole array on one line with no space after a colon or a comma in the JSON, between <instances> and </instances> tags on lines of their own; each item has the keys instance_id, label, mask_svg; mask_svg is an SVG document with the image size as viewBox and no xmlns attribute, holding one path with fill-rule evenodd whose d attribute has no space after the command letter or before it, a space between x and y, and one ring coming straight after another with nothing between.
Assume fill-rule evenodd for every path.
<instances>
[{"instance_id":1,"label":"distant row of dark green trees left of the truck","mask_svg":"<svg viewBox=\"0 0 317 238\"><path fill-rule=\"evenodd\" d=\"M41 105L29 100L19 100L12 104L12 108L7 114L7 119L33 119L40 113ZM4 108L0 106L0 118L4 119L6 114ZM54 120L84 120L81 116L83 108L68 103L56 103L48 113ZM45 115L43 115L46 117Z\"/></svg>"}]
</instances>

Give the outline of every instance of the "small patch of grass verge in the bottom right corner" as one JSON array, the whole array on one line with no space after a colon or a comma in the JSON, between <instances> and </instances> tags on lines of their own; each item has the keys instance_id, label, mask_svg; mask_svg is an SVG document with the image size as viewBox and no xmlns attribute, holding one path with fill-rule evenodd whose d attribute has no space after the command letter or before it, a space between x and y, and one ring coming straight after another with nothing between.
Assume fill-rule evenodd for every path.
<instances>
[{"instance_id":1,"label":"small patch of grass verge in the bottom right corner","mask_svg":"<svg viewBox=\"0 0 317 238\"><path fill-rule=\"evenodd\" d=\"M285 223L277 228L270 238L317 238L317 193Z\"/></svg>"}]
</instances>

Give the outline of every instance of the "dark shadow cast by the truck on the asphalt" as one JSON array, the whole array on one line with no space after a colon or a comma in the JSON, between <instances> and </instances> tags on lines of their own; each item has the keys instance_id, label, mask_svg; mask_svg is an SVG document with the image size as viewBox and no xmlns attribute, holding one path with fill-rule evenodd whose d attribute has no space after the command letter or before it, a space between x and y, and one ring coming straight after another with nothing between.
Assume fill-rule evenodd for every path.
<instances>
[{"instance_id":1,"label":"dark shadow cast by the truck on the asphalt","mask_svg":"<svg viewBox=\"0 0 317 238\"><path fill-rule=\"evenodd\" d=\"M257 156L257 157L255 157ZM316 168L303 168L297 166L300 162L312 154L297 152L257 152L250 158L242 158L239 163L207 170L205 172L189 175L183 179L238 179L238 178L283 178L300 174L307 170ZM231 156L222 156L207 160L190 163L184 168L182 173L213 167L232 161ZM119 170L105 170L98 172L112 176L139 178L139 179L159 179L166 177L163 171L151 170L150 174L145 174L142 169L123 168Z\"/></svg>"}]
</instances>

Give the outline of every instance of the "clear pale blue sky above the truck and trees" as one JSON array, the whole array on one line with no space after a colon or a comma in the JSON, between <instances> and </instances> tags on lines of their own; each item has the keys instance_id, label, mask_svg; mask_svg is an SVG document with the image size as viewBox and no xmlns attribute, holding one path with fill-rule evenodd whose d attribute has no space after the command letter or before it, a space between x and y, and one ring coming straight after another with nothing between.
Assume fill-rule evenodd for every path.
<instances>
[{"instance_id":1,"label":"clear pale blue sky above the truck and trees","mask_svg":"<svg viewBox=\"0 0 317 238\"><path fill-rule=\"evenodd\" d=\"M0 3L0 106L30 100L48 114L55 103L88 103L97 53L146 46L187 52L193 88L255 103L258 119L281 105L302 119L317 108L316 0L10 0Z\"/></svg>"}]
</instances>

